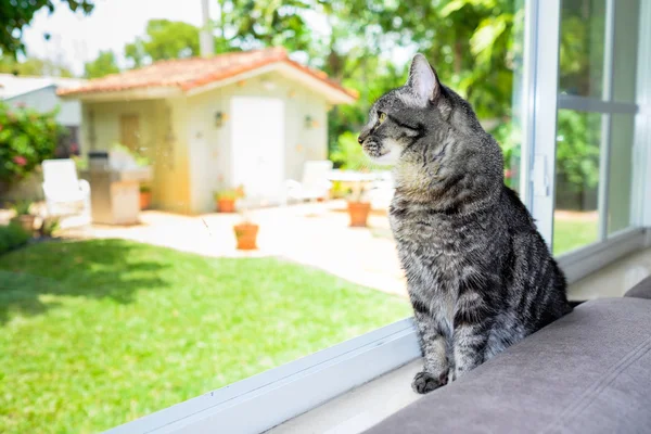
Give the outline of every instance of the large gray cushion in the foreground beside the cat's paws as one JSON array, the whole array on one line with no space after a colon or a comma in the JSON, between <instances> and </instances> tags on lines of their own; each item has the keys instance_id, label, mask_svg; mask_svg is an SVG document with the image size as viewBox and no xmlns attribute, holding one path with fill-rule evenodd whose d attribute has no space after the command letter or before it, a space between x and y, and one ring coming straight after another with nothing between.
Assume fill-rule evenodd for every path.
<instances>
[{"instance_id":1,"label":"large gray cushion in the foreground beside the cat's paws","mask_svg":"<svg viewBox=\"0 0 651 434\"><path fill-rule=\"evenodd\" d=\"M651 433L651 301L584 303L367 433Z\"/></svg>"}]
</instances>

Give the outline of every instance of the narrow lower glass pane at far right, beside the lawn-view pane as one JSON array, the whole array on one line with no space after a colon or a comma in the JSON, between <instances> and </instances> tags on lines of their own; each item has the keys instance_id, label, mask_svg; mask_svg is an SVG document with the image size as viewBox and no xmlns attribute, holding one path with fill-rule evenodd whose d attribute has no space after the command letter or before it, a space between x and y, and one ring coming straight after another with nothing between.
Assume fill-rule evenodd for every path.
<instances>
[{"instance_id":1,"label":"narrow lower glass pane at far right, beside the lawn-view pane","mask_svg":"<svg viewBox=\"0 0 651 434\"><path fill-rule=\"evenodd\" d=\"M634 115L612 115L608 199L609 234L630 226L634 129Z\"/></svg>"}]
</instances>

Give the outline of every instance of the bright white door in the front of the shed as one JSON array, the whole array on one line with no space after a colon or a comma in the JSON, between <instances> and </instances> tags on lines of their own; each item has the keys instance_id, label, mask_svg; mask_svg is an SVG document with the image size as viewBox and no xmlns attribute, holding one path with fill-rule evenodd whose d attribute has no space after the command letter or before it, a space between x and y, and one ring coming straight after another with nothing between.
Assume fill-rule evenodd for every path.
<instances>
[{"instance_id":1,"label":"bright white door in the front of the shed","mask_svg":"<svg viewBox=\"0 0 651 434\"><path fill-rule=\"evenodd\" d=\"M276 98L231 100L232 180L252 200L278 202L284 178L284 103Z\"/></svg>"}]
</instances>

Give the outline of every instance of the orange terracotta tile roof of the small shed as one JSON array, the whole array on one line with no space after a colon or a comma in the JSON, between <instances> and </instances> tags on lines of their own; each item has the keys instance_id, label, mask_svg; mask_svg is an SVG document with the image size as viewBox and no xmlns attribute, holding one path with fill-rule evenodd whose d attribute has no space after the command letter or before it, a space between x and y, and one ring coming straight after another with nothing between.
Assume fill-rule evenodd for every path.
<instances>
[{"instance_id":1,"label":"orange terracotta tile roof of the small shed","mask_svg":"<svg viewBox=\"0 0 651 434\"><path fill-rule=\"evenodd\" d=\"M213 58L159 61L139 69L95 78L79 87L61 89L59 94L74 95L150 87L177 87L181 90L189 90L277 62L285 62L331 87L357 98L357 92L329 79L326 73L290 60L283 48L225 53Z\"/></svg>"}]
</instances>

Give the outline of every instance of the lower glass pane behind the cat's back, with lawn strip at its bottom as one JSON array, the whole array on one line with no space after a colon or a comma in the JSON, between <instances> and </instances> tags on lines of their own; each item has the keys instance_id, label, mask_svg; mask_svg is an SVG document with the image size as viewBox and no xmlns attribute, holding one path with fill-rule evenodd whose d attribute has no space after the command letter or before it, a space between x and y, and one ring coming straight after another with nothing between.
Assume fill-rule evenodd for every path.
<instances>
[{"instance_id":1,"label":"lower glass pane behind the cat's back, with lawn strip at its bottom","mask_svg":"<svg viewBox=\"0 0 651 434\"><path fill-rule=\"evenodd\" d=\"M553 253L598 240L601 115L559 111L556 161Z\"/></svg>"}]
</instances>

